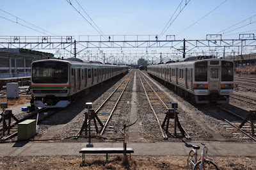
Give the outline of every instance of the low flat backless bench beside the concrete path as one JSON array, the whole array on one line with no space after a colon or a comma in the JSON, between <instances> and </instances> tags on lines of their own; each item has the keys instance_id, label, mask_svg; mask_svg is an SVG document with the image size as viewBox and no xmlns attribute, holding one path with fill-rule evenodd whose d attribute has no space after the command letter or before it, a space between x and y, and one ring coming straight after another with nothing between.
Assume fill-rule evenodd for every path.
<instances>
[{"instance_id":1,"label":"low flat backless bench beside the concrete path","mask_svg":"<svg viewBox=\"0 0 256 170\"><path fill-rule=\"evenodd\" d=\"M84 165L84 155L85 153L106 153L106 162L108 162L108 153L124 153L124 148L82 148L79 153L83 153L83 163L81 166ZM133 148L126 148L126 153L134 153Z\"/></svg>"}]
</instances>

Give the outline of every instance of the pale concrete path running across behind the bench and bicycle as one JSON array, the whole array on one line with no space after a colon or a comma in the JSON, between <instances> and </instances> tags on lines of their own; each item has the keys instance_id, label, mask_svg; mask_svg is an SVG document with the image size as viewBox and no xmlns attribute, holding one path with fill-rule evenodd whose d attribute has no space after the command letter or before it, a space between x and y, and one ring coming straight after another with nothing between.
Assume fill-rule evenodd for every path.
<instances>
[{"instance_id":1,"label":"pale concrete path running across behind the bench and bicycle","mask_svg":"<svg viewBox=\"0 0 256 170\"><path fill-rule=\"evenodd\" d=\"M202 148L200 141L189 143L127 143L127 148L134 148L132 155L176 155L186 156L191 150L192 144L198 144ZM256 143L234 143L234 142L204 142L209 148L209 155L214 156L256 156ZM81 155L79 150L85 148L88 143L1 143L0 157L6 156L52 156L52 155ZM123 147L123 143L93 143L95 148L99 147ZM200 151L202 150L200 148Z\"/></svg>"}]
</instances>

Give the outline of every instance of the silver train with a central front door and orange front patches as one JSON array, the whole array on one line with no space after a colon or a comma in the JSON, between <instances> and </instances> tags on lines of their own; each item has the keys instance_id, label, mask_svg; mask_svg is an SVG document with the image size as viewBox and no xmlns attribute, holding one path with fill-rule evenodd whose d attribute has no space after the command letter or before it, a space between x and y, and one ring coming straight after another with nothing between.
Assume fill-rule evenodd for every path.
<instances>
[{"instance_id":1,"label":"silver train with a central front door and orange front patches","mask_svg":"<svg viewBox=\"0 0 256 170\"><path fill-rule=\"evenodd\" d=\"M234 62L227 59L195 59L147 66L147 72L170 84L197 104L225 104L234 89Z\"/></svg>"}]
</instances>

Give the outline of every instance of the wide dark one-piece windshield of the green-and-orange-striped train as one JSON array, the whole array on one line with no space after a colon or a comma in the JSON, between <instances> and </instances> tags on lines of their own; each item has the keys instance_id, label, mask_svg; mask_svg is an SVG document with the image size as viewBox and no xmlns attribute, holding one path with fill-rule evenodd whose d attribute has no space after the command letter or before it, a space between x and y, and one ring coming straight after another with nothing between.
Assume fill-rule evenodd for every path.
<instances>
[{"instance_id":1,"label":"wide dark one-piece windshield of the green-and-orange-striped train","mask_svg":"<svg viewBox=\"0 0 256 170\"><path fill-rule=\"evenodd\" d=\"M61 62L38 62L32 65L34 83L67 83L68 64Z\"/></svg>"}]
</instances>

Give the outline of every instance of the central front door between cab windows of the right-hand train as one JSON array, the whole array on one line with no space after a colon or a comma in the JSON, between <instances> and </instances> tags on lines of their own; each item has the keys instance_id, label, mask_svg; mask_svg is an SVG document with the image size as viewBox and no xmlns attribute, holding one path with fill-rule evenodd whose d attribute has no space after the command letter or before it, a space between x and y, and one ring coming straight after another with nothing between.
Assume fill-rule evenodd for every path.
<instances>
[{"instance_id":1,"label":"central front door between cab windows of the right-hand train","mask_svg":"<svg viewBox=\"0 0 256 170\"><path fill-rule=\"evenodd\" d=\"M220 92L220 66L209 66L208 89L209 93Z\"/></svg>"}]
</instances>

